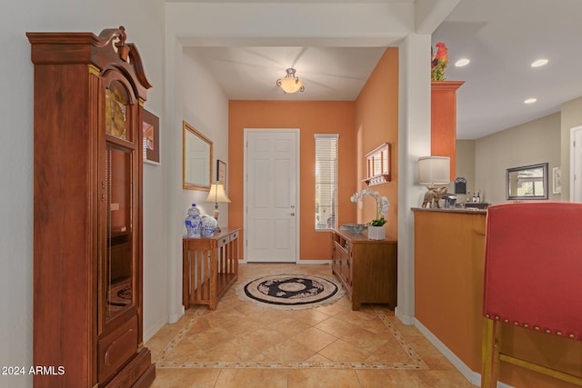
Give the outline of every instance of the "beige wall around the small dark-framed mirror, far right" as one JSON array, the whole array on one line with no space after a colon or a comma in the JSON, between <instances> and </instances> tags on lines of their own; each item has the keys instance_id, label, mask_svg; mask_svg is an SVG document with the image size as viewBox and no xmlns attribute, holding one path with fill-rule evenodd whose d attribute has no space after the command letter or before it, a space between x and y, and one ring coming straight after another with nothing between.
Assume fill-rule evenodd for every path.
<instances>
[{"instance_id":1,"label":"beige wall around the small dark-framed mirror, far right","mask_svg":"<svg viewBox=\"0 0 582 388\"><path fill-rule=\"evenodd\" d=\"M551 192L552 168L560 165L560 114L550 114L532 122L482 137L475 142L475 177L472 190L488 204L504 204L506 169L548 163L550 201L560 201Z\"/></svg>"}]
</instances>

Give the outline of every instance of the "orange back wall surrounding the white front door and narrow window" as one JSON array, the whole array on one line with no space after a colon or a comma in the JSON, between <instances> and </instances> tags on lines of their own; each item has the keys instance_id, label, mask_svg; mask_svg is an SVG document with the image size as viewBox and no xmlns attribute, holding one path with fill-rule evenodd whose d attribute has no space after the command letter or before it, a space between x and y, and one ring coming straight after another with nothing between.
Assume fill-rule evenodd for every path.
<instances>
[{"instance_id":1,"label":"orange back wall surrounding the white front door and narrow window","mask_svg":"<svg viewBox=\"0 0 582 388\"><path fill-rule=\"evenodd\" d=\"M338 223L353 223L356 206L356 137L351 101L230 101L228 105L228 224L243 226L243 167L245 128L300 129L300 249L302 260L330 260L329 232L315 231L314 134L339 134ZM243 231L244 234L245 231ZM242 241L245 241L244 236Z\"/></svg>"}]
</instances>

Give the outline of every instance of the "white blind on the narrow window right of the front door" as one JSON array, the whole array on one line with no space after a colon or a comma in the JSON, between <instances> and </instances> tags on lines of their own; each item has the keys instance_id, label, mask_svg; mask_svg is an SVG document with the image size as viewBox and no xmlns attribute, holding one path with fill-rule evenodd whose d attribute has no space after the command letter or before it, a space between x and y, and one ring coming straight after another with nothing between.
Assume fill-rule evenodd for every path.
<instances>
[{"instance_id":1,"label":"white blind on the narrow window right of the front door","mask_svg":"<svg viewBox=\"0 0 582 388\"><path fill-rule=\"evenodd\" d=\"M315 134L316 230L336 227L338 134Z\"/></svg>"}]
</instances>

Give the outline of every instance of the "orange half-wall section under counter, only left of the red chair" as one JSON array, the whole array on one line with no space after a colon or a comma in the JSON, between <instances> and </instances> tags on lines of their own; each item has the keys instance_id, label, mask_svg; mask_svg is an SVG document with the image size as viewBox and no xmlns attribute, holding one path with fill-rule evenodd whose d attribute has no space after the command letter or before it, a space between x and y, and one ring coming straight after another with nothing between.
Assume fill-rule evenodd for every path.
<instances>
[{"instance_id":1,"label":"orange half-wall section under counter, only left of the red chair","mask_svg":"<svg viewBox=\"0 0 582 388\"><path fill-rule=\"evenodd\" d=\"M416 320L479 372L487 212L414 210Z\"/></svg>"}]
</instances>

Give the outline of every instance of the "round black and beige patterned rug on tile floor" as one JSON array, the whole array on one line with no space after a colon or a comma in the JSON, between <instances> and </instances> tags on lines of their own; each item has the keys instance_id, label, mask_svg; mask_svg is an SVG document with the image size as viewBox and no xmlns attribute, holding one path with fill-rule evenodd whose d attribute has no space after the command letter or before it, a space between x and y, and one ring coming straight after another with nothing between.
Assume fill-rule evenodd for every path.
<instances>
[{"instance_id":1,"label":"round black and beige patterned rug on tile floor","mask_svg":"<svg viewBox=\"0 0 582 388\"><path fill-rule=\"evenodd\" d=\"M339 300L345 291L336 280L306 274L276 274L240 286L236 295L264 307L299 310Z\"/></svg>"}]
</instances>

